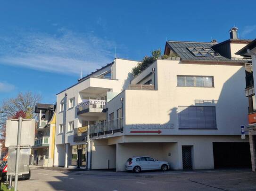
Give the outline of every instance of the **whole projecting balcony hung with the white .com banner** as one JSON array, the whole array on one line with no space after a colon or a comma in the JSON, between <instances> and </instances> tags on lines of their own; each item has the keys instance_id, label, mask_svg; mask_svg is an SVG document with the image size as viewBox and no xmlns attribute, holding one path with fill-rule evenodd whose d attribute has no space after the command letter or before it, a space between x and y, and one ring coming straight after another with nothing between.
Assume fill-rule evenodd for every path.
<instances>
[{"instance_id":1,"label":"whole projecting balcony hung with the white .com banner","mask_svg":"<svg viewBox=\"0 0 256 191\"><path fill-rule=\"evenodd\" d=\"M83 116L105 116L106 101L99 99L83 99L77 105L77 115Z\"/></svg>"}]
</instances>

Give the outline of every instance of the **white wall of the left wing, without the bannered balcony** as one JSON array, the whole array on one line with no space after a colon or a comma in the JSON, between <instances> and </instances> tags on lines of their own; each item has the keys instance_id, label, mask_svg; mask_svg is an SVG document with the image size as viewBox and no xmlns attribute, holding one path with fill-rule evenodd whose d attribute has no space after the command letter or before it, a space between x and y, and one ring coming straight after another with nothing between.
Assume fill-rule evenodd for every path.
<instances>
[{"instance_id":1,"label":"white wall of the left wing, without the bannered balcony","mask_svg":"<svg viewBox=\"0 0 256 191\"><path fill-rule=\"evenodd\" d=\"M112 99L128 87L132 80L130 71L137 63L138 61L116 58L113 63L108 64L105 68L97 70L93 75L80 80L66 91L57 94L55 166L67 167L71 165L71 145L86 143L85 140L74 142L74 131L70 130L69 122L74 122L74 129L76 129L82 127L82 120L89 122L106 120L106 113L88 112L77 115L77 105L83 102L83 96L99 100L107 96L107 100ZM108 72L111 72L110 77L100 77ZM70 105L71 99L74 100L74 105ZM66 144L66 149L64 144Z\"/></svg>"}]
</instances>

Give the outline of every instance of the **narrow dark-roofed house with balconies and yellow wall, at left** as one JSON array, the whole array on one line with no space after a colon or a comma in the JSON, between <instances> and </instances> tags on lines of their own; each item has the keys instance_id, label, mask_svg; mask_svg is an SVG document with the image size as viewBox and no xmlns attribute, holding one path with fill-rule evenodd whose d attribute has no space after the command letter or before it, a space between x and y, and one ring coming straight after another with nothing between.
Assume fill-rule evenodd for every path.
<instances>
[{"instance_id":1,"label":"narrow dark-roofed house with balconies and yellow wall, at left","mask_svg":"<svg viewBox=\"0 0 256 191\"><path fill-rule=\"evenodd\" d=\"M43 167L53 166L55 145L56 105L37 103L35 113L38 122L35 144L32 147L33 164Z\"/></svg>"}]
</instances>

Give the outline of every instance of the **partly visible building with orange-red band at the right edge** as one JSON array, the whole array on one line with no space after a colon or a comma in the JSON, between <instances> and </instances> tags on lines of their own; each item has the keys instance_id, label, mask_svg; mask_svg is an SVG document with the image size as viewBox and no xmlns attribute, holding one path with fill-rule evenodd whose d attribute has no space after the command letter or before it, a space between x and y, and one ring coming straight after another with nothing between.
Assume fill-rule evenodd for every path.
<instances>
[{"instance_id":1,"label":"partly visible building with orange-red band at the right edge","mask_svg":"<svg viewBox=\"0 0 256 191\"><path fill-rule=\"evenodd\" d=\"M256 170L256 98L254 90L254 82L256 82L256 75L253 75L253 71L256 71L256 39L250 42L247 46L243 47L236 54L243 57L250 57L252 63L248 63L245 66L246 70L246 89L245 94L248 97L248 121L249 125L247 130L249 131L250 150L252 170Z\"/></svg>"}]
</instances>

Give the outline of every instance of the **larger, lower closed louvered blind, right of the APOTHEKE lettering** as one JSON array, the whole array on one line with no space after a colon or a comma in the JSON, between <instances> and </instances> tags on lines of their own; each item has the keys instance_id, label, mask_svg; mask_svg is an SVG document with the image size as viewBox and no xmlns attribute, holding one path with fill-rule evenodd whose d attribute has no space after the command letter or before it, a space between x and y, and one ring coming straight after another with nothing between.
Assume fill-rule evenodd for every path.
<instances>
[{"instance_id":1,"label":"larger, lower closed louvered blind, right of the APOTHEKE lettering","mask_svg":"<svg viewBox=\"0 0 256 191\"><path fill-rule=\"evenodd\" d=\"M217 129L215 107L179 106L179 129Z\"/></svg>"}]
</instances>

